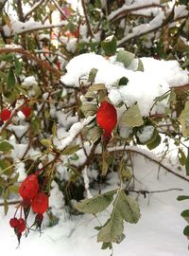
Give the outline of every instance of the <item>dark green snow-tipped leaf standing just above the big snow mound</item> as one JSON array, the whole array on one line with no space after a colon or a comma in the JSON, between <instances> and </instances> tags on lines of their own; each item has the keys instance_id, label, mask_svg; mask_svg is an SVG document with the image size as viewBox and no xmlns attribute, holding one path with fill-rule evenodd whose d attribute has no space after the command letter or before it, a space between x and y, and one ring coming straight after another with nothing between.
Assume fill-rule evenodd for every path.
<instances>
[{"instance_id":1,"label":"dark green snow-tipped leaf standing just above the big snow mound","mask_svg":"<svg viewBox=\"0 0 189 256\"><path fill-rule=\"evenodd\" d=\"M105 52L105 55L112 56L116 52L117 40L114 36L109 36L102 41L101 46Z\"/></svg>"}]
</instances>

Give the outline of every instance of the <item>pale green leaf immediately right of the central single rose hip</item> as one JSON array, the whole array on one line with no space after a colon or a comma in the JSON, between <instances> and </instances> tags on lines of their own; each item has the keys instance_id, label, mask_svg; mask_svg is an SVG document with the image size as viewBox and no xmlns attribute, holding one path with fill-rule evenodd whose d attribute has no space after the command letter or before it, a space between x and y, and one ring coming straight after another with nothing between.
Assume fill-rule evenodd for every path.
<instances>
[{"instance_id":1,"label":"pale green leaf immediately right of the central single rose hip","mask_svg":"<svg viewBox=\"0 0 189 256\"><path fill-rule=\"evenodd\" d=\"M144 124L141 111L137 104L129 107L121 116L120 123L123 126L137 127Z\"/></svg>"}]
</instances>

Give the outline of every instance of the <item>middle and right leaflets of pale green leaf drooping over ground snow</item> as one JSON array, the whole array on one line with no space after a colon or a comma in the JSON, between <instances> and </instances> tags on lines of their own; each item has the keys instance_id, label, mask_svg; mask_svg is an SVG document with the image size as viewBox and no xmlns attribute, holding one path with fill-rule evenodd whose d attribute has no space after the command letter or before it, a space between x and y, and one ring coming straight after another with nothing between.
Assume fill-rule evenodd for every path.
<instances>
[{"instance_id":1,"label":"middle and right leaflets of pale green leaf drooping over ground snow","mask_svg":"<svg viewBox=\"0 0 189 256\"><path fill-rule=\"evenodd\" d=\"M137 223L140 218L138 203L126 195L123 190L117 192L113 201L111 218L98 232L97 241L103 243L119 243L123 238L123 221Z\"/></svg>"}]
</instances>

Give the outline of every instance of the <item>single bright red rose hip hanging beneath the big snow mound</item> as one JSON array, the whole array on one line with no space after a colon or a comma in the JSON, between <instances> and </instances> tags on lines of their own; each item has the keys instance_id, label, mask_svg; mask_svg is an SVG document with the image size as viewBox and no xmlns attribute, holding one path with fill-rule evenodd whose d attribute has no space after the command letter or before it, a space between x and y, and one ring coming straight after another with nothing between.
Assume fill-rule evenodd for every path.
<instances>
[{"instance_id":1,"label":"single bright red rose hip hanging beneath the big snow mound","mask_svg":"<svg viewBox=\"0 0 189 256\"><path fill-rule=\"evenodd\" d=\"M112 129L117 123L117 112L108 101L102 101L96 113L96 121L104 130L104 137L111 137Z\"/></svg>"}]
</instances>

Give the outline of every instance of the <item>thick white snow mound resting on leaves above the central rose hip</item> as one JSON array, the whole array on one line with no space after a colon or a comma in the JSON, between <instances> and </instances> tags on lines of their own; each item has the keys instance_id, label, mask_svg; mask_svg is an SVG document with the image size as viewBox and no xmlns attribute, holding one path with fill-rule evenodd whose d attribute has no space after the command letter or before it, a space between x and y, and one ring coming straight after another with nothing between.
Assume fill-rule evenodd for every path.
<instances>
[{"instance_id":1,"label":"thick white snow mound resting on leaves above the central rose hip","mask_svg":"<svg viewBox=\"0 0 189 256\"><path fill-rule=\"evenodd\" d=\"M145 71L135 72L116 62L115 57L108 61L94 53L81 54L67 64L67 73L60 80L66 85L79 86L79 79L87 79L91 69L96 68L98 71L94 82L106 85L114 105L125 102L131 106L138 102L142 115L148 116L157 97L170 87L188 83L188 72L182 70L177 61L159 61L153 58L141 58L141 61ZM117 87L115 83L122 77L128 78L129 82L126 86ZM153 108L153 113L163 113L165 106L166 101L161 101L161 104Z\"/></svg>"}]
</instances>

